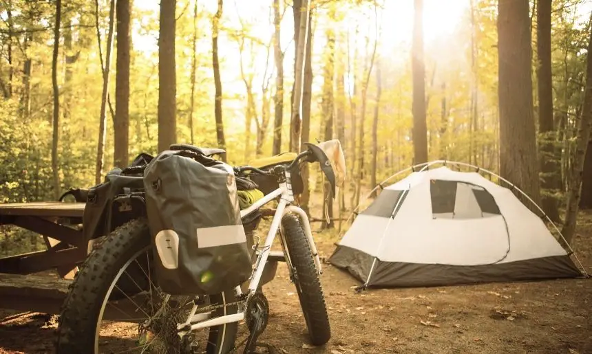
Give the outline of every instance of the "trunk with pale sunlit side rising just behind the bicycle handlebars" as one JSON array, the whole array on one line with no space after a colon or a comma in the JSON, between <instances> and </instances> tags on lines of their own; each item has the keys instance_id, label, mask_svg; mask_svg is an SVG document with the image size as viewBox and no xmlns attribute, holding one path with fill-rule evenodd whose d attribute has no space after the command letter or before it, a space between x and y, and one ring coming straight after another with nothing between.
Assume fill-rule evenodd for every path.
<instances>
[{"instance_id":1,"label":"trunk with pale sunlit side rising just behind the bicycle handlebars","mask_svg":"<svg viewBox=\"0 0 592 354\"><path fill-rule=\"evenodd\" d=\"M302 125L302 95L304 89L304 58L306 58L306 40L308 38L308 0L294 1L294 24L295 24L295 69L294 69L294 91L292 94L292 118L290 120L290 151L300 151L300 129ZM304 15L304 16L303 16ZM296 27L298 30L296 31Z\"/></svg>"}]
</instances>

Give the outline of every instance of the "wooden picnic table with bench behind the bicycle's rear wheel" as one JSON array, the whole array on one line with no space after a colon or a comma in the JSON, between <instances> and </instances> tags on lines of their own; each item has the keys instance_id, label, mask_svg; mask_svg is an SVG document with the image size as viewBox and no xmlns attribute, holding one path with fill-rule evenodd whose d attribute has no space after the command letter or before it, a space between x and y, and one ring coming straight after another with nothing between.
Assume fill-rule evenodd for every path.
<instances>
[{"instance_id":1,"label":"wooden picnic table with bench behind the bicycle's rear wheel","mask_svg":"<svg viewBox=\"0 0 592 354\"><path fill-rule=\"evenodd\" d=\"M0 258L2 307L59 313L77 264L87 256L82 234L84 208L85 203L63 201L0 204L0 225L35 232L47 247Z\"/></svg>"}]
</instances>

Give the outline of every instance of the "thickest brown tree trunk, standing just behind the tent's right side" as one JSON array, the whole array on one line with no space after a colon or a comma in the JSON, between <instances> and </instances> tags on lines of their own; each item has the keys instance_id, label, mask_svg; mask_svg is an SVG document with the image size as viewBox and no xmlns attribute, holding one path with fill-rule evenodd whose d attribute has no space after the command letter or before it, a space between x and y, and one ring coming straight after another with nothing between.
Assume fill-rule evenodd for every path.
<instances>
[{"instance_id":1,"label":"thickest brown tree trunk, standing just behind the tent's right side","mask_svg":"<svg viewBox=\"0 0 592 354\"><path fill-rule=\"evenodd\" d=\"M500 173L538 203L529 1L499 0L498 6Z\"/></svg>"}]
</instances>

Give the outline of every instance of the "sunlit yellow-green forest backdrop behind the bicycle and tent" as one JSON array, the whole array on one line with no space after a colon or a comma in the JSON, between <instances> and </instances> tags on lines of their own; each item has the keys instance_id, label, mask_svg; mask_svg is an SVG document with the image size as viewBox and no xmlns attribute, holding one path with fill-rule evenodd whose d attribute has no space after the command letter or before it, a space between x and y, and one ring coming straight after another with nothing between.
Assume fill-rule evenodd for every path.
<instances>
[{"instance_id":1,"label":"sunlit yellow-green forest backdrop behind the bicycle and tent","mask_svg":"<svg viewBox=\"0 0 592 354\"><path fill-rule=\"evenodd\" d=\"M547 7L548 45L538 30ZM566 205L578 166L580 120L592 114L591 11L584 0L0 0L0 201L56 199L171 141L226 148L231 164L290 151L297 42L306 38L298 133L302 142L341 140L350 183L341 208L425 157L507 177L500 167L522 146L500 140L500 122L523 107L537 151L531 177L509 179L551 200L545 211L557 219L551 209ZM514 13L508 21L528 36L504 41L499 23ZM540 91L538 51L547 47L550 86ZM530 104L499 96L518 63L500 65L500 53L516 48L529 60L520 73L531 78ZM425 128L414 131L418 122ZM501 128L502 139L515 130ZM320 191L317 171L305 175L306 190ZM582 194L592 206L586 178Z\"/></svg>"}]
</instances>

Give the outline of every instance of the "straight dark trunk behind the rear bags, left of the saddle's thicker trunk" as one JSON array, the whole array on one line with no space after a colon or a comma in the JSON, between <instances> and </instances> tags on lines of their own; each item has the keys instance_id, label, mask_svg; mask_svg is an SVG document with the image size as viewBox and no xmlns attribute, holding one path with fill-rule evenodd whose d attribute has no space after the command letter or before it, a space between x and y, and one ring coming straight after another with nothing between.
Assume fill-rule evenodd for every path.
<instances>
[{"instance_id":1,"label":"straight dark trunk behind the rear bags, left of the saddle's thicker trunk","mask_svg":"<svg viewBox=\"0 0 592 354\"><path fill-rule=\"evenodd\" d=\"M117 63L115 76L114 166L129 163L129 0L117 1Z\"/></svg>"}]
</instances>

